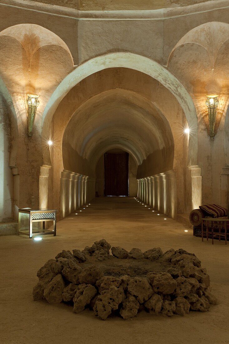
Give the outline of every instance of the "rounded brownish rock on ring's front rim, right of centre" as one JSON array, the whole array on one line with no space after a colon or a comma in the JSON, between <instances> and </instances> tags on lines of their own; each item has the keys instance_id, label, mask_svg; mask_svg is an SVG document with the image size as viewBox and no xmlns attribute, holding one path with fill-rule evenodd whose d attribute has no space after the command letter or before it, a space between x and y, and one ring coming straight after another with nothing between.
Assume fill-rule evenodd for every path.
<instances>
[{"instance_id":1,"label":"rounded brownish rock on ring's front rim, right of centre","mask_svg":"<svg viewBox=\"0 0 229 344\"><path fill-rule=\"evenodd\" d=\"M174 292L177 282L169 273L162 272L154 277L152 286L155 292L166 295Z\"/></svg>"}]
</instances>

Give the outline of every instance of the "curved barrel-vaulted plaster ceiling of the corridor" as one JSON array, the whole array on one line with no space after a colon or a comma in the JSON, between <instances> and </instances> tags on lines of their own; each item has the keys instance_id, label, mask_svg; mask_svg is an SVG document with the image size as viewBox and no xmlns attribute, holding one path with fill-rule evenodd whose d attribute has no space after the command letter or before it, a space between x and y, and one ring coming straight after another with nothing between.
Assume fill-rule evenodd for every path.
<instances>
[{"instance_id":1,"label":"curved barrel-vaulted plaster ceiling of the corridor","mask_svg":"<svg viewBox=\"0 0 229 344\"><path fill-rule=\"evenodd\" d=\"M101 155L113 148L134 157L139 177L173 168L174 141L167 119L145 97L124 89L108 90L83 103L65 129L62 146L64 169L90 176Z\"/></svg>"}]
</instances>

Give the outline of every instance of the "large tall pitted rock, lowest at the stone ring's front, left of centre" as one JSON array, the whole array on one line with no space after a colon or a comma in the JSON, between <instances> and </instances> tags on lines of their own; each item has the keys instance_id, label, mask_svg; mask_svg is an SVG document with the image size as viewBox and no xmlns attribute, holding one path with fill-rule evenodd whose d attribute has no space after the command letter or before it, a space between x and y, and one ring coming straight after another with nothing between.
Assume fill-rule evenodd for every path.
<instances>
[{"instance_id":1,"label":"large tall pitted rock, lowest at the stone ring's front, left of centre","mask_svg":"<svg viewBox=\"0 0 229 344\"><path fill-rule=\"evenodd\" d=\"M94 305L94 314L102 320L106 320L107 316L113 310L118 309L119 304L123 301L123 289L111 286L98 295Z\"/></svg>"}]
</instances>

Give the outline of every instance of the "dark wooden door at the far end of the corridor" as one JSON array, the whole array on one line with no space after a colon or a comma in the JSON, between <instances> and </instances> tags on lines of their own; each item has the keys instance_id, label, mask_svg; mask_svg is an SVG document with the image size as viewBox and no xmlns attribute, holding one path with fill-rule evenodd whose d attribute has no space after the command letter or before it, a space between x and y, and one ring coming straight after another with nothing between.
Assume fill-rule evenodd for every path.
<instances>
[{"instance_id":1,"label":"dark wooden door at the far end of the corridor","mask_svg":"<svg viewBox=\"0 0 229 344\"><path fill-rule=\"evenodd\" d=\"M104 154L104 196L128 196L128 153Z\"/></svg>"}]
</instances>

